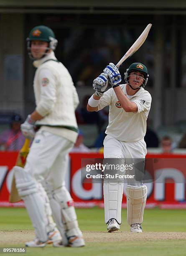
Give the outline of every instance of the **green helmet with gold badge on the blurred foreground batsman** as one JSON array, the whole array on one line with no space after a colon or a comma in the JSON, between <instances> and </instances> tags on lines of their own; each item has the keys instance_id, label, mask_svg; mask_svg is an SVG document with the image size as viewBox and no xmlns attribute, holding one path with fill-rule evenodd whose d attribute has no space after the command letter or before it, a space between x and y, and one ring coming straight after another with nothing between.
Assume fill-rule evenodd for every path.
<instances>
[{"instance_id":1,"label":"green helmet with gold badge on the blurred foreground batsman","mask_svg":"<svg viewBox=\"0 0 186 256\"><path fill-rule=\"evenodd\" d=\"M54 32L51 30L51 28L46 26L36 26L31 30L27 38L28 49L31 47L31 41L48 42L48 48L52 49L53 51L56 49L58 42Z\"/></svg>"}]
</instances>

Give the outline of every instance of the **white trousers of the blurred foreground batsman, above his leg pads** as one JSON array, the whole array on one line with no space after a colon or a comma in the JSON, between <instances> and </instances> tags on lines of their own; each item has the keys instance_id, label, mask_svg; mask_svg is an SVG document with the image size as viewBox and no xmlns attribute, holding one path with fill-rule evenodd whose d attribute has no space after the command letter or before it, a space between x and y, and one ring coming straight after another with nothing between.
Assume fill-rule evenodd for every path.
<instances>
[{"instance_id":1,"label":"white trousers of the blurred foreground batsman, above his leg pads","mask_svg":"<svg viewBox=\"0 0 186 256\"><path fill-rule=\"evenodd\" d=\"M48 131L38 131L27 157L25 171L39 182L45 179L52 190L61 187L65 180L68 153L73 145L66 138Z\"/></svg>"}]
</instances>

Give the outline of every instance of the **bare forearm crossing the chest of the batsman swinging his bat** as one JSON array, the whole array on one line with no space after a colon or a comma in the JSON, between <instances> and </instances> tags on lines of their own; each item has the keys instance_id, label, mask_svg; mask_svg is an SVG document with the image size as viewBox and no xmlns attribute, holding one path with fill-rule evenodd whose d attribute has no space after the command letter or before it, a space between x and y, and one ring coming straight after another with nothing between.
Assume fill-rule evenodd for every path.
<instances>
[{"instance_id":1,"label":"bare forearm crossing the chest of the batsman swinging his bat","mask_svg":"<svg viewBox=\"0 0 186 256\"><path fill-rule=\"evenodd\" d=\"M117 96L117 99L119 100L122 108L126 112L137 112L138 107L134 102L131 102L127 96L123 93L120 86L117 86L114 88L115 94Z\"/></svg>"}]
</instances>

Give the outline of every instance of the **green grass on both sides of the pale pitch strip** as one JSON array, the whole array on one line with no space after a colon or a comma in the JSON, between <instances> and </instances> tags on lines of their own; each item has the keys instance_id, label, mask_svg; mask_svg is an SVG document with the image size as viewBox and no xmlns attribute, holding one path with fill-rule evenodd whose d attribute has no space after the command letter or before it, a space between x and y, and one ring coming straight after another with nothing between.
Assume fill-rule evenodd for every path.
<instances>
[{"instance_id":1,"label":"green grass on both sides of the pale pitch strip","mask_svg":"<svg viewBox=\"0 0 186 256\"><path fill-rule=\"evenodd\" d=\"M79 225L82 230L104 231L104 210L76 209ZM126 221L127 212L122 210L122 231L129 231ZM32 225L24 208L0 208L0 231L31 230ZM143 230L156 232L186 232L186 210L146 209L143 221ZM11 241L10 241L11 243ZM5 245L8 246L8 245ZM22 246L21 245L17 245ZM86 243L84 248L27 248L26 256L40 255L127 255L127 256L184 256L186 255L185 240L167 241L124 241Z\"/></svg>"}]
</instances>

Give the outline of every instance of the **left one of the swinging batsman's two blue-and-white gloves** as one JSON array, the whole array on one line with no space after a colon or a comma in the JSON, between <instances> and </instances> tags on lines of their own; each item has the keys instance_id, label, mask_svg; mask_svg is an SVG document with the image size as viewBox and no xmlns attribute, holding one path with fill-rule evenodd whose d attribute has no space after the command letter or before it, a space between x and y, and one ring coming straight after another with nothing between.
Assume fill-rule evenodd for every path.
<instances>
[{"instance_id":1,"label":"left one of the swinging batsman's two blue-and-white gloves","mask_svg":"<svg viewBox=\"0 0 186 256\"><path fill-rule=\"evenodd\" d=\"M108 86L108 75L105 73L100 74L99 77L94 79L92 86L96 90L95 95L102 96Z\"/></svg>"}]
</instances>

